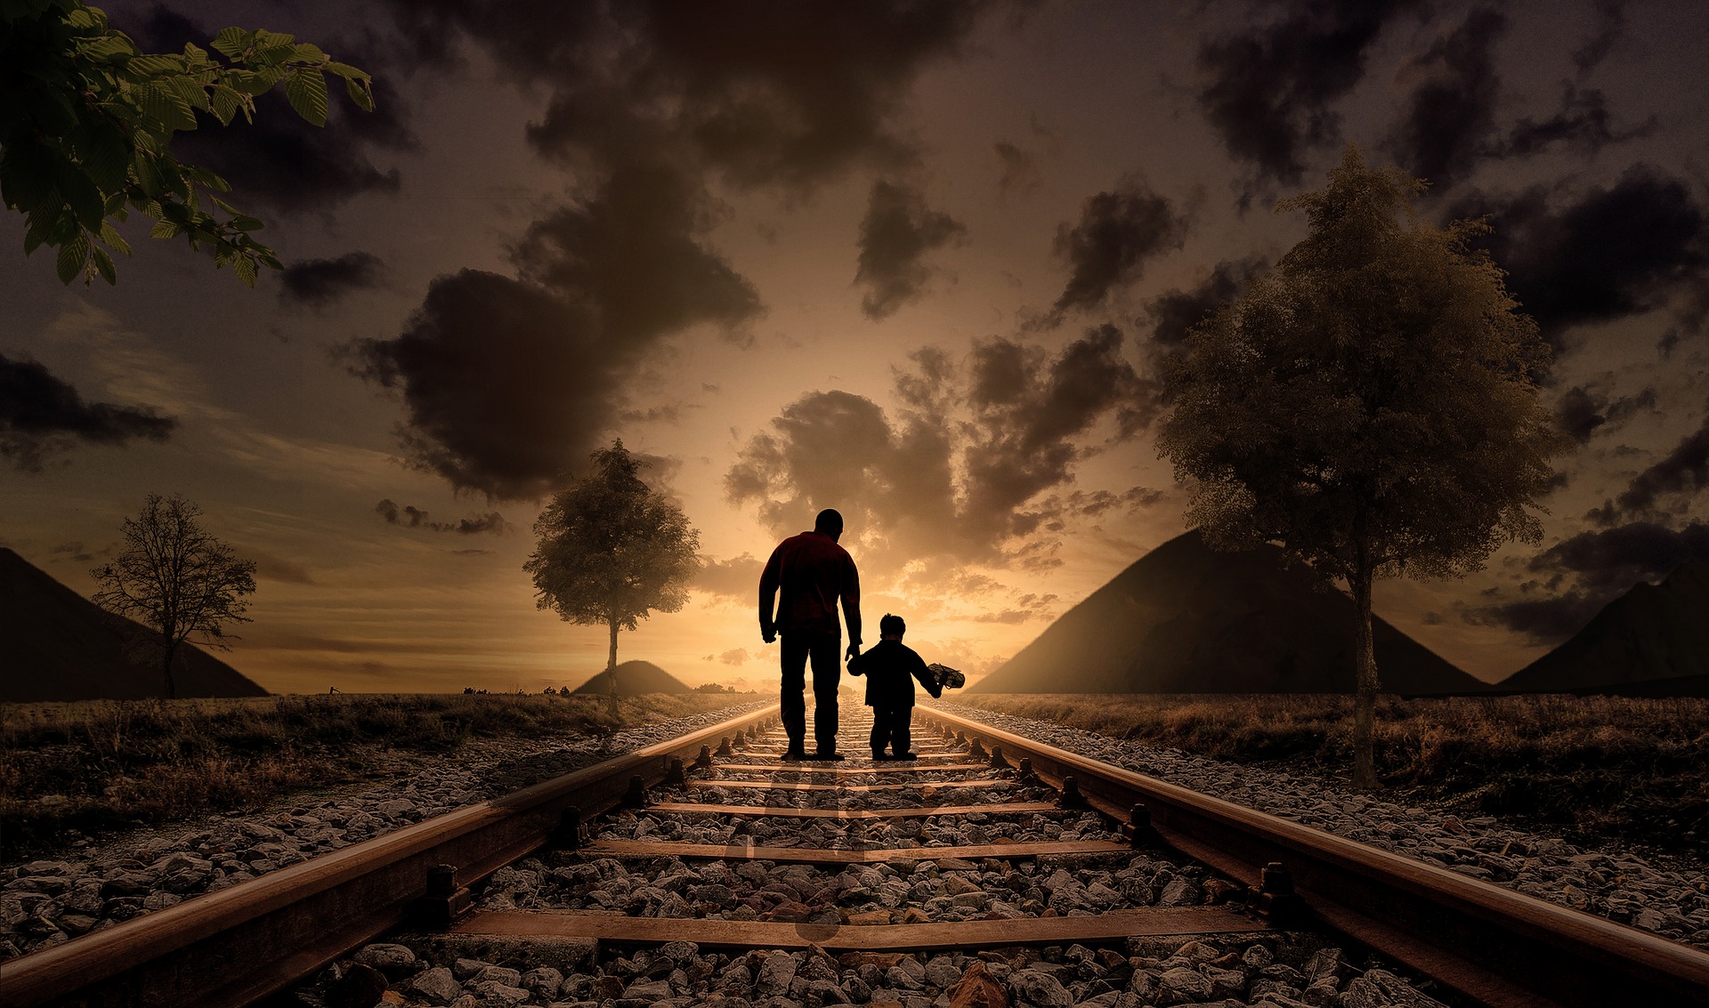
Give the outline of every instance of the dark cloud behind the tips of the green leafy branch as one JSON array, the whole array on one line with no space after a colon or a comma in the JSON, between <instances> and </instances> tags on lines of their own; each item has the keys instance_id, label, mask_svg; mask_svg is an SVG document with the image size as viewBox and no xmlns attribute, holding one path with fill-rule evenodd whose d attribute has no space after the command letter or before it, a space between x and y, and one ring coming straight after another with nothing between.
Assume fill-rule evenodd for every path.
<instances>
[{"instance_id":1,"label":"dark cloud behind the tips of the green leafy branch","mask_svg":"<svg viewBox=\"0 0 1709 1008\"><path fill-rule=\"evenodd\" d=\"M207 46L217 34L188 17L154 7L137 26L118 24L145 51L179 53L185 43ZM376 152L410 152L417 149L408 126L408 103L390 80L381 43L373 38L349 44L313 39L333 58L354 63L374 75L374 111L357 109L335 85L325 126L304 123L285 101L282 91L256 99L255 123L239 114L229 126L202 116L200 128L178 133L173 152L219 173L232 185L232 202L263 203L279 212L325 210L352 196L381 191L395 193L402 185L398 169L374 164ZM342 39L340 39L342 41Z\"/></svg>"}]
</instances>

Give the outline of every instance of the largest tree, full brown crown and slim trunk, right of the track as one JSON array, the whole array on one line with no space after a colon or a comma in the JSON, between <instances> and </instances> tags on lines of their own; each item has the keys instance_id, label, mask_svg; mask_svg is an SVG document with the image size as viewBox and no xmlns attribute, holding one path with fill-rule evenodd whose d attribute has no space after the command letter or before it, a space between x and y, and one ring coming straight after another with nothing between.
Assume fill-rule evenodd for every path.
<instances>
[{"instance_id":1,"label":"largest tree, full brown crown and slim trunk, right of the track","mask_svg":"<svg viewBox=\"0 0 1709 1008\"><path fill-rule=\"evenodd\" d=\"M1196 483L1188 521L1222 548L1280 543L1354 598L1357 788L1376 786L1372 583L1538 542L1528 509L1567 448L1536 398L1548 347L1470 244L1487 226L1420 222L1424 186L1350 145L1277 205L1306 239L1164 367L1157 451Z\"/></svg>"}]
</instances>

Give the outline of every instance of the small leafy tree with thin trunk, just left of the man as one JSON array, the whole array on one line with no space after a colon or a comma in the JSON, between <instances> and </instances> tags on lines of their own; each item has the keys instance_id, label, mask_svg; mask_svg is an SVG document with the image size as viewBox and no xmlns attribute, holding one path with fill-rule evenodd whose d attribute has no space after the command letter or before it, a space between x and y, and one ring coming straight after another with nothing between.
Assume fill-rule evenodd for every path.
<instances>
[{"instance_id":1,"label":"small leafy tree with thin trunk, just left of the man","mask_svg":"<svg viewBox=\"0 0 1709 1008\"><path fill-rule=\"evenodd\" d=\"M651 610L673 613L689 601L689 577L701 569L701 533L641 480L641 463L622 441L591 458L593 472L540 513L540 545L523 571L533 576L538 608L610 629L605 671L615 700L617 630L634 630Z\"/></svg>"}]
</instances>

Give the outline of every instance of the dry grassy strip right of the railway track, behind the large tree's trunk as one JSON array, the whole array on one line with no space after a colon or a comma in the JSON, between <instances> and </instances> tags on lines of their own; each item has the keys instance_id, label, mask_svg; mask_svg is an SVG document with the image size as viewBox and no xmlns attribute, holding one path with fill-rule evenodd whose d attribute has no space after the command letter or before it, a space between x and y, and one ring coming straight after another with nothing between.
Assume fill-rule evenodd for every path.
<instances>
[{"instance_id":1,"label":"dry grassy strip right of the railway track, behind the large tree's trunk","mask_svg":"<svg viewBox=\"0 0 1709 1008\"><path fill-rule=\"evenodd\" d=\"M1198 755L1347 779L1343 695L984 695L957 700ZM1502 815L1574 841L1709 854L1709 699L1377 702L1388 798Z\"/></svg>"}]
</instances>

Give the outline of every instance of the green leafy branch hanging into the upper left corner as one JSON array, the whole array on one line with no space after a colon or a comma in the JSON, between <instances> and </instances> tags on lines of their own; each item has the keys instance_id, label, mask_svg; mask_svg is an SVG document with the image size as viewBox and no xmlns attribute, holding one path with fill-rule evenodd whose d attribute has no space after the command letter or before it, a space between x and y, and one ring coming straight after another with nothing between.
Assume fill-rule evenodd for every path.
<instances>
[{"instance_id":1,"label":"green leafy branch hanging into the upper left corner","mask_svg":"<svg viewBox=\"0 0 1709 1008\"><path fill-rule=\"evenodd\" d=\"M195 130L198 111L253 121L255 97L275 85L321 126L328 73L364 111L373 80L289 34L227 27L210 46L142 53L80 0L0 0L0 202L27 220L26 255L60 249L62 282L116 280L111 251L130 246L113 222L130 210L154 219L152 237L208 248L251 287L260 267L280 268L253 234L261 222L212 195L226 179L173 157L173 133Z\"/></svg>"}]
</instances>

